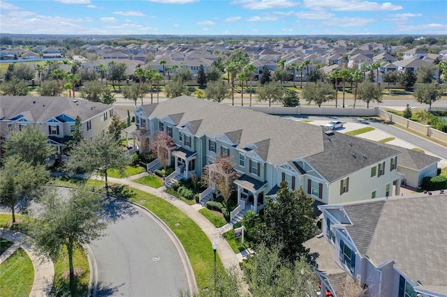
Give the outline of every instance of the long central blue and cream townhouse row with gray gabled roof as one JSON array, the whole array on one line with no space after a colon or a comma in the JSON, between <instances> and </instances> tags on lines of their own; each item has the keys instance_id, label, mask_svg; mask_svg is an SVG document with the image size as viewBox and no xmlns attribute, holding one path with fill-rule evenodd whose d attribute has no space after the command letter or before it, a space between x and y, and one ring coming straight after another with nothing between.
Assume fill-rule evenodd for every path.
<instances>
[{"instance_id":1,"label":"long central blue and cream townhouse row with gray gabled roof","mask_svg":"<svg viewBox=\"0 0 447 297\"><path fill-rule=\"evenodd\" d=\"M163 130L179 177L219 155L235 163L237 204L258 212L281 181L324 204L400 195L400 151L278 116L180 96L134 111L140 135Z\"/></svg>"}]
</instances>

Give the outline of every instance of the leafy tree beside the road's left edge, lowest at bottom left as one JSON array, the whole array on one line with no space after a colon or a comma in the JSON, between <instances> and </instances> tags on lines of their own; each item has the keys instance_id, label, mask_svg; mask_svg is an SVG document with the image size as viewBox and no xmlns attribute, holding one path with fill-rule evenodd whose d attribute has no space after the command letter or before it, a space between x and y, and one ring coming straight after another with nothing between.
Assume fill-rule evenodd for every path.
<instances>
[{"instance_id":1,"label":"leafy tree beside the road's left edge, lowest at bottom left","mask_svg":"<svg viewBox=\"0 0 447 297\"><path fill-rule=\"evenodd\" d=\"M78 188L65 199L53 189L40 202L41 211L36 213L37 220L30 222L29 235L50 259L58 259L66 248L71 296L77 296L73 254L83 244L103 236L108 223L101 217L101 195Z\"/></svg>"}]
</instances>

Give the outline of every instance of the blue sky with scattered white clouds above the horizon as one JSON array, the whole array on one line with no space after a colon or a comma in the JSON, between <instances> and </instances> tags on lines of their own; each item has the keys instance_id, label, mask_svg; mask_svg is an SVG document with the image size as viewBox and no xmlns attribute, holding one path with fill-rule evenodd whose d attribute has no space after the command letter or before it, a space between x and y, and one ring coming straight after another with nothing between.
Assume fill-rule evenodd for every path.
<instances>
[{"instance_id":1,"label":"blue sky with scattered white clouds above the horizon","mask_svg":"<svg viewBox=\"0 0 447 297\"><path fill-rule=\"evenodd\" d=\"M447 1L2 0L0 33L447 35Z\"/></svg>"}]
</instances>

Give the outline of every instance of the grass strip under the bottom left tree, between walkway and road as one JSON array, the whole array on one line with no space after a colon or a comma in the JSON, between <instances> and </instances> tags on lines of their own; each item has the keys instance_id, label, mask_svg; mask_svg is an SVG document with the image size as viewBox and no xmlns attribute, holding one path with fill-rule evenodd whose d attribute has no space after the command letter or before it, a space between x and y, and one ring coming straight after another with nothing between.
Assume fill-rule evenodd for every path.
<instances>
[{"instance_id":1,"label":"grass strip under the bottom left tree, between walkway and road","mask_svg":"<svg viewBox=\"0 0 447 297\"><path fill-rule=\"evenodd\" d=\"M73 254L73 266L75 268L82 268L82 274L75 277L78 296L87 296L87 292L89 290L90 269L89 260L87 259L85 250L75 250L75 253ZM54 262L53 292L59 290L61 292L70 291L69 278L62 277L62 273L64 273L64 271L68 271L69 267L68 255L66 254L66 249L64 249L62 256Z\"/></svg>"}]
</instances>

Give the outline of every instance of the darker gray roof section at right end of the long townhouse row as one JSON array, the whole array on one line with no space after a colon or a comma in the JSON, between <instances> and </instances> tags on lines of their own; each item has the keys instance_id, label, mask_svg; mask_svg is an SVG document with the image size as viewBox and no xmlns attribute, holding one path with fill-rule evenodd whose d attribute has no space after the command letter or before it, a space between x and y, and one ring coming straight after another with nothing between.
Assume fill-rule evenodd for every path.
<instances>
[{"instance_id":1,"label":"darker gray roof section at right end of the long townhouse row","mask_svg":"<svg viewBox=\"0 0 447 297\"><path fill-rule=\"evenodd\" d=\"M377 146L365 139L339 132L326 135L324 132L326 129L321 129L324 151L309 156L306 160L329 182L337 181L352 172L400 154L400 151L393 148Z\"/></svg>"}]
</instances>

